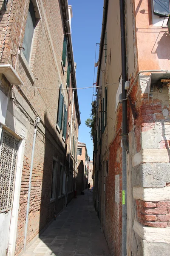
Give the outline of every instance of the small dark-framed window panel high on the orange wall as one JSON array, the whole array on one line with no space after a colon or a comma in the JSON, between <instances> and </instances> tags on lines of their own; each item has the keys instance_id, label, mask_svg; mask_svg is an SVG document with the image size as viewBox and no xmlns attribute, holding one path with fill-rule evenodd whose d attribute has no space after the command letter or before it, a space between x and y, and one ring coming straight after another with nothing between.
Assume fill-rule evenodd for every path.
<instances>
[{"instance_id":1,"label":"small dark-framed window panel high on the orange wall","mask_svg":"<svg viewBox=\"0 0 170 256\"><path fill-rule=\"evenodd\" d=\"M170 14L169 0L153 0L153 13L160 17Z\"/></svg>"}]
</instances>

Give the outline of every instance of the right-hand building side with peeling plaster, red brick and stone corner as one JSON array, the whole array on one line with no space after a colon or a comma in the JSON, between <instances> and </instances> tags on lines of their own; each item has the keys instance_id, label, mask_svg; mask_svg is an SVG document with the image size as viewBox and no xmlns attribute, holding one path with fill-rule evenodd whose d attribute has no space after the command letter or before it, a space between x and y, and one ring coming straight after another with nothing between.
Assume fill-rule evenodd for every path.
<instances>
[{"instance_id":1,"label":"right-hand building side with peeling plaster, red brick and stone corner","mask_svg":"<svg viewBox=\"0 0 170 256\"><path fill-rule=\"evenodd\" d=\"M119 11L119 1L104 1L96 79L94 206L113 255L163 256L170 250L170 36L150 3L125 3L124 133Z\"/></svg>"}]
</instances>

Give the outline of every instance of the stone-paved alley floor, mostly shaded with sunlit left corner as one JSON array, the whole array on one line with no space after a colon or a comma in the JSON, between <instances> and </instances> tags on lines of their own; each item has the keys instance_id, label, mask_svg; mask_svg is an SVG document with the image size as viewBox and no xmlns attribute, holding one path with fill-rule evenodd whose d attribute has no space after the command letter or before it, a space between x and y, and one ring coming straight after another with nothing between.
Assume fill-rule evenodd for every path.
<instances>
[{"instance_id":1,"label":"stone-paved alley floor, mostly shaded with sunlit left corner","mask_svg":"<svg viewBox=\"0 0 170 256\"><path fill-rule=\"evenodd\" d=\"M93 194L74 198L23 256L110 256Z\"/></svg>"}]
</instances>

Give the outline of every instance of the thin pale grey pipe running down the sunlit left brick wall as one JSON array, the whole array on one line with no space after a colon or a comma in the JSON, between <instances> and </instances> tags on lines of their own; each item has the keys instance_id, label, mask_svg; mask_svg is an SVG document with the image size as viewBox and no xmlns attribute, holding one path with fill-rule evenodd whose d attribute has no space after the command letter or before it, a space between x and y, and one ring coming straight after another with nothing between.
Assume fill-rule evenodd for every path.
<instances>
[{"instance_id":1,"label":"thin pale grey pipe running down the sunlit left brick wall","mask_svg":"<svg viewBox=\"0 0 170 256\"><path fill-rule=\"evenodd\" d=\"M32 145L31 168L30 168L30 175L29 175L28 201L27 201L27 211L26 211L26 226L25 226L25 233L24 233L24 253L26 252L26 239L27 239L27 229L28 229L28 214L29 214L29 203L30 203L30 193L31 193L31 179L32 179L32 169L33 169L33 162L34 162L34 149L35 149L35 140L36 140L37 124L38 123L40 123L39 117L37 117L37 119L35 121L34 139L33 139L33 145Z\"/></svg>"}]
</instances>

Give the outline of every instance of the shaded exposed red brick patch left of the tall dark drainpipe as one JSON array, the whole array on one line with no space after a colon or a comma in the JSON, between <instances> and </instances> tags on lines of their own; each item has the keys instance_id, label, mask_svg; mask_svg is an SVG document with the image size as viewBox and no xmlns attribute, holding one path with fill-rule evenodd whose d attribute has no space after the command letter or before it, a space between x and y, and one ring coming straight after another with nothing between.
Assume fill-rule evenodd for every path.
<instances>
[{"instance_id":1,"label":"shaded exposed red brick patch left of the tall dark drainpipe","mask_svg":"<svg viewBox=\"0 0 170 256\"><path fill-rule=\"evenodd\" d=\"M117 134L109 146L109 167L105 190L105 238L111 253L122 255L122 147L121 110L118 111ZM103 170L102 170L103 171ZM115 201L115 175L119 175L119 203Z\"/></svg>"}]
</instances>

